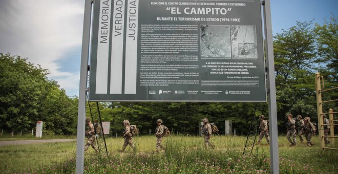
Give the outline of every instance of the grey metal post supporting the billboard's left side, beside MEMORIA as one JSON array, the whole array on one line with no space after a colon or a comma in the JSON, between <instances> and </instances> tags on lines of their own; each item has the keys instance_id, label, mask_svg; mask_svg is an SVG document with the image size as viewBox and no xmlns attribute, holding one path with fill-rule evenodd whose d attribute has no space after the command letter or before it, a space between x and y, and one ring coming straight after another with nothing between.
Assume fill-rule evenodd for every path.
<instances>
[{"instance_id":1,"label":"grey metal post supporting the billboard's left side, beside MEMORIA","mask_svg":"<svg viewBox=\"0 0 338 174\"><path fill-rule=\"evenodd\" d=\"M83 173L85 161L85 118L86 118L86 87L87 68L89 58L89 40L91 23L91 1L85 1L85 14L83 17L82 51L80 67L80 85L77 116L77 140L76 140L76 173Z\"/></svg>"}]
</instances>

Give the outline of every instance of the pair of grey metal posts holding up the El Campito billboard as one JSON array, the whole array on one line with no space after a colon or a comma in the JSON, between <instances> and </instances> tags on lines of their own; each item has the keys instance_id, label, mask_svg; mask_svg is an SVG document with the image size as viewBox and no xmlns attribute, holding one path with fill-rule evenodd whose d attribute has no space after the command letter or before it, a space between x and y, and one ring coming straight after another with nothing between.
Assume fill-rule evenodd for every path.
<instances>
[{"instance_id":1,"label":"pair of grey metal posts holding up the El Campito billboard","mask_svg":"<svg viewBox=\"0 0 338 174\"><path fill-rule=\"evenodd\" d=\"M82 34L82 52L79 84L79 102L78 102L78 126L77 126L77 145L76 145L76 173L83 173L84 165L84 145L85 145L85 118L86 118L86 91L87 91L87 69L89 58L89 41L91 29L91 12L93 0L85 1L85 14L83 20ZM262 1L265 51L268 81L268 104L270 120L270 168L272 173L279 173L279 155L278 155L278 132L277 132L277 103L276 103L276 85L274 79L274 60L272 45L272 26L270 0Z\"/></svg>"}]
</instances>

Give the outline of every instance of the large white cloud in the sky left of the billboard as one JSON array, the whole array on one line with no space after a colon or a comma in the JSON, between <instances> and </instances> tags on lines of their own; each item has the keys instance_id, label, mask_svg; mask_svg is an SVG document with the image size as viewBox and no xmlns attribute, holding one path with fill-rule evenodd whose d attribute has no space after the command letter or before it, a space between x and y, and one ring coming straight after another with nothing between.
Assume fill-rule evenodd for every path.
<instances>
[{"instance_id":1,"label":"large white cloud in the sky left of the billboard","mask_svg":"<svg viewBox=\"0 0 338 174\"><path fill-rule=\"evenodd\" d=\"M57 62L81 46L83 10L81 0L1 0L0 52L28 57L49 69L67 94L78 95L79 72L61 72Z\"/></svg>"}]
</instances>

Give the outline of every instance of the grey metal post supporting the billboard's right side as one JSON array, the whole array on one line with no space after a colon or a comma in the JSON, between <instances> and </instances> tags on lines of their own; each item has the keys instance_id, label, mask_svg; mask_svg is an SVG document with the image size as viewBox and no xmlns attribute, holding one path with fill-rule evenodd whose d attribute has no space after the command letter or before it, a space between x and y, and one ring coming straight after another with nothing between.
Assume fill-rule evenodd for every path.
<instances>
[{"instance_id":1,"label":"grey metal post supporting the billboard's right side","mask_svg":"<svg viewBox=\"0 0 338 174\"><path fill-rule=\"evenodd\" d=\"M268 103L270 120L270 168L271 173L279 173L279 155L278 155L278 132L277 132L277 102L276 102L276 83L274 80L274 60L272 45L272 25L270 0L263 1L264 14L264 33L267 61L267 80L268 80Z\"/></svg>"}]
</instances>

